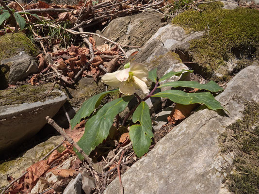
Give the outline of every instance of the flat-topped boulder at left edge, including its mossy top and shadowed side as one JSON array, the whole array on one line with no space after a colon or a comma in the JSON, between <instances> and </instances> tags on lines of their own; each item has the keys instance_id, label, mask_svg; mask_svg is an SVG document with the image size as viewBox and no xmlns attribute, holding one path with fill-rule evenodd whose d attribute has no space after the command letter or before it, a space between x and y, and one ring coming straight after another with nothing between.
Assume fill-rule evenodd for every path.
<instances>
[{"instance_id":1,"label":"flat-topped boulder at left edge, including its mossy top and shadowed side","mask_svg":"<svg viewBox=\"0 0 259 194\"><path fill-rule=\"evenodd\" d=\"M53 117L66 101L52 84L24 85L0 91L0 152L31 138Z\"/></svg>"}]
</instances>

